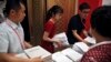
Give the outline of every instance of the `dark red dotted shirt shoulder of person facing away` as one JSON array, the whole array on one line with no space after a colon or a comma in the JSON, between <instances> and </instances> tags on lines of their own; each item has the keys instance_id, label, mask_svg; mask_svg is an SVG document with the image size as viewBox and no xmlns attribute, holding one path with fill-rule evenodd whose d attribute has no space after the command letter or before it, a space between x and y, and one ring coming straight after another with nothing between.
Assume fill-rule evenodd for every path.
<instances>
[{"instance_id":1,"label":"dark red dotted shirt shoulder of person facing away","mask_svg":"<svg viewBox=\"0 0 111 62\"><path fill-rule=\"evenodd\" d=\"M87 53L84 53L81 62L85 61L97 61L97 62L105 62L109 61L111 56L111 44L102 44L94 48L91 48Z\"/></svg>"}]
</instances>

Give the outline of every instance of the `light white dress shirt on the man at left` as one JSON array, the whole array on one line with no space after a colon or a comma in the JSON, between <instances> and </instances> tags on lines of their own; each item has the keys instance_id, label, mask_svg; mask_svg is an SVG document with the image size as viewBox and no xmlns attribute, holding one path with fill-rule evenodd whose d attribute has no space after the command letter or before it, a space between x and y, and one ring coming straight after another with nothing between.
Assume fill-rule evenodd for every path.
<instances>
[{"instance_id":1,"label":"light white dress shirt on the man at left","mask_svg":"<svg viewBox=\"0 0 111 62\"><path fill-rule=\"evenodd\" d=\"M24 34L21 24L16 24L7 19L0 24L0 52L21 53L23 52Z\"/></svg>"}]
</instances>

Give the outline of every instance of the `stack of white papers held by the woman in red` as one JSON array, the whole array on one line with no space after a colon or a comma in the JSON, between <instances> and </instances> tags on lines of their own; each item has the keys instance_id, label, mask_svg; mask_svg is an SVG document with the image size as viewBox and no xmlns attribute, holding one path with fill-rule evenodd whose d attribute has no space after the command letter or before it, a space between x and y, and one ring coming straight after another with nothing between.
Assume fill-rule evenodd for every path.
<instances>
[{"instance_id":1,"label":"stack of white papers held by the woman in red","mask_svg":"<svg viewBox=\"0 0 111 62\"><path fill-rule=\"evenodd\" d=\"M62 33L59 33L59 34L56 34L52 39L54 40L60 40L62 42L62 45L69 45L69 42L68 42L68 38L65 35L65 32L62 32ZM54 48L58 48L58 45L54 43Z\"/></svg>"}]
</instances>

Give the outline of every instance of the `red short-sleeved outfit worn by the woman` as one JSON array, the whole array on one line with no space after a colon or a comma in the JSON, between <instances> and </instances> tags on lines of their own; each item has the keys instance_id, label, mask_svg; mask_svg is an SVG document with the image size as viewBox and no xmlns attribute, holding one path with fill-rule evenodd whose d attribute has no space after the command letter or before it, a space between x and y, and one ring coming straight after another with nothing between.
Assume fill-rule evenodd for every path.
<instances>
[{"instance_id":1,"label":"red short-sleeved outfit worn by the woman","mask_svg":"<svg viewBox=\"0 0 111 62\"><path fill-rule=\"evenodd\" d=\"M56 24L51 21L50 19L46 24L44 24L44 31L49 32L49 38L53 38L56 33ZM41 46L48 50L49 52L53 53L54 52L54 46L52 42L48 41L42 41Z\"/></svg>"}]
</instances>

